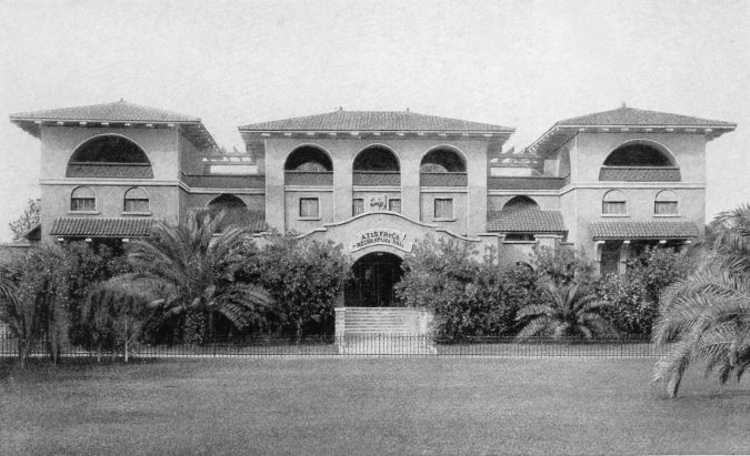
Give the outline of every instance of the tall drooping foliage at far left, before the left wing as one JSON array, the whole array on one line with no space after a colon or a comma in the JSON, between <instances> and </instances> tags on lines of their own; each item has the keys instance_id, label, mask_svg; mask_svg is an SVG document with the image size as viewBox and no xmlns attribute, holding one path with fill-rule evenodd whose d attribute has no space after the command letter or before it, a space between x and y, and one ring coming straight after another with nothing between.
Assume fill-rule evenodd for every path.
<instances>
[{"instance_id":1,"label":"tall drooping foliage at far left, before the left wing","mask_svg":"<svg viewBox=\"0 0 750 456\"><path fill-rule=\"evenodd\" d=\"M33 247L13 259L7 275L16 298L2 300L0 320L19 338L21 363L40 341L57 362L64 326L74 321L91 287L119 271L119 265L107 247L84 243Z\"/></svg>"}]
</instances>

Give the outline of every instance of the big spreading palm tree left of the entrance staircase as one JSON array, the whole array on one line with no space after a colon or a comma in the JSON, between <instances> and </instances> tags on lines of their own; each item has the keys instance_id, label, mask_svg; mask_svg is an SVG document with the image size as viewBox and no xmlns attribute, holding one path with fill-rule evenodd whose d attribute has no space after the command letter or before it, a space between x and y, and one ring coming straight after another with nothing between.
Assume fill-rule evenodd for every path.
<instances>
[{"instance_id":1,"label":"big spreading palm tree left of the entrance staircase","mask_svg":"<svg viewBox=\"0 0 750 456\"><path fill-rule=\"evenodd\" d=\"M181 315L188 342L213 335L213 316L223 315L244 328L272 304L260 286L238 282L234 275L256 253L251 231L232 226L218 232L223 213L197 210L184 224L158 223L150 237L131 244L128 260L138 280L157 282L166 290L163 317Z\"/></svg>"}]
</instances>

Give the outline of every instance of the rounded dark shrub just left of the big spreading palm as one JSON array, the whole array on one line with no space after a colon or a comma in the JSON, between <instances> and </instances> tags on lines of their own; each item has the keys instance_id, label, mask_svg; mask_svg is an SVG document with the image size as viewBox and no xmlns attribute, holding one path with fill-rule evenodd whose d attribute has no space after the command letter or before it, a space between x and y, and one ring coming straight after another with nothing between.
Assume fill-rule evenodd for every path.
<instances>
[{"instance_id":1,"label":"rounded dark shrub just left of the big spreading palm","mask_svg":"<svg viewBox=\"0 0 750 456\"><path fill-rule=\"evenodd\" d=\"M150 316L150 296L133 290L130 283L109 281L98 285L82 308L82 327L101 355L102 348L121 352L124 362Z\"/></svg>"}]
</instances>

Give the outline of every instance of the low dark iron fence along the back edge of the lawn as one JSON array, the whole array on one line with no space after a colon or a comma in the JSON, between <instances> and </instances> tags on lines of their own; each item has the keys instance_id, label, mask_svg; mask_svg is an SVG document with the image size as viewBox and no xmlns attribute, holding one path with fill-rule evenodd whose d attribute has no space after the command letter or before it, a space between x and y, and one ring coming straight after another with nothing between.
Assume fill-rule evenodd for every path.
<instances>
[{"instance_id":1,"label":"low dark iron fence along the back edge of the lawn","mask_svg":"<svg viewBox=\"0 0 750 456\"><path fill-rule=\"evenodd\" d=\"M19 341L0 334L0 356L18 356ZM409 334L351 334L346 336L243 337L212 340L199 345L134 344L129 356L137 358L190 357L287 357L287 356L442 356L442 357L660 357L664 347L648 337L627 336L597 340L536 337L446 338ZM49 356L49 344L37 341L30 356ZM61 357L122 357L122 351L63 345Z\"/></svg>"}]
</instances>

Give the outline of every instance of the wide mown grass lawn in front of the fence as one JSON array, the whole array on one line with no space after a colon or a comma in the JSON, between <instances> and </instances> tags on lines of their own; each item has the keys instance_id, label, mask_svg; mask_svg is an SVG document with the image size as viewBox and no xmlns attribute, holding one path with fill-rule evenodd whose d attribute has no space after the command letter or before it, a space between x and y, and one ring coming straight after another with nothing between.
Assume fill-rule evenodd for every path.
<instances>
[{"instance_id":1,"label":"wide mown grass lawn in front of the fence","mask_svg":"<svg viewBox=\"0 0 750 456\"><path fill-rule=\"evenodd\" d=\"M68 361L68 363L71 363ZM184 359L0 366L0 454L749 453L750 384L653 361Z\"/></svg>"}]
</instances>

